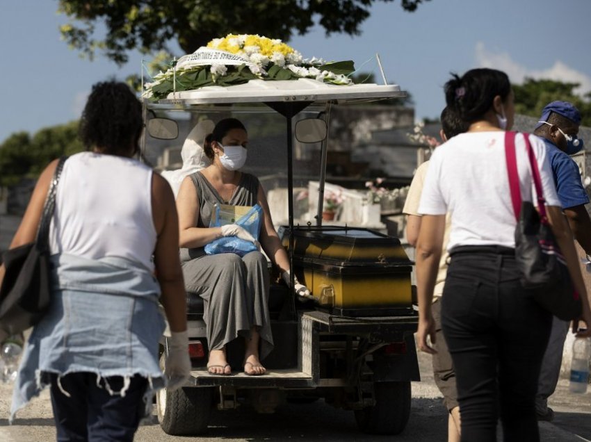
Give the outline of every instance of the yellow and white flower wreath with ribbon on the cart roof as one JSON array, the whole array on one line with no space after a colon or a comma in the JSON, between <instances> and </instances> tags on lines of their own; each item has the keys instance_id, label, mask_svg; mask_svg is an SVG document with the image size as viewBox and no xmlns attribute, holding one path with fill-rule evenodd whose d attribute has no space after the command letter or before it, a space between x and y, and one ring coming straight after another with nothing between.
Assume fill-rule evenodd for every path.
<instances>
[{"instance_id":1,"label":"yellow and white flower wreath with ribbon on the cart roof","mask_svg":"<svg viewBox=\"0 0 591 442\"><path fill-rule=\"evenodd\" d=\"M176 71L176 72L175 72ZM173 90L206 86L230 86L250 80L297 80L311 78L325 83L348 85L355 71L353 61L327 63L321 58L305 59L281 40L259 35L229 34L214 38L207 47L179 58L175 66L146 83L147 97L165 98ZM173 82L176 80L176 87Z\"/></svg>"}]
</instances>

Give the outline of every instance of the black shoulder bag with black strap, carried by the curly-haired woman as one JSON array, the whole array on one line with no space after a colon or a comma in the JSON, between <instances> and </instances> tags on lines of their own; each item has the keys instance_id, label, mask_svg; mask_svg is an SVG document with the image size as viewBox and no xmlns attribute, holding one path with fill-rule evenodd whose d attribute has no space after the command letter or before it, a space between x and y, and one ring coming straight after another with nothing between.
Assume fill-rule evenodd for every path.
<instances>
[{"instance_id":1,"label":"black shoulder bag with black strap, carried by the curly-haired woman","mask_svg":"<svg viewBox=\"0 0 591 442\"><path fill-rule=\"evenodd\" d=\"M37 324L49 308L49 224L54 215L62 156L51 181L33 243L3 253L6 273L0 286L0 329L17 334Z\"/></svg>"}]
</instances>

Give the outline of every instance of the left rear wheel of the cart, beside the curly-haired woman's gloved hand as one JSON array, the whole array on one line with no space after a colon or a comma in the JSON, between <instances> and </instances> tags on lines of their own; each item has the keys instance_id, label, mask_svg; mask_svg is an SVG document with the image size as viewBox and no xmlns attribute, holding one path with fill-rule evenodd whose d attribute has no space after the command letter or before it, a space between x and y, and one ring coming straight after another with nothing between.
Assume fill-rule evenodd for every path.
<instances>
[{"instance_id":1,"label":"left rear wheel of the cart, beside the curly-haired woman's gloved hand","mask_svg":"<svg viewBox=\"0 0 591 442\"><path fill-rule=\"evenodd\" d=\"M161 358L163 362L164 355ZM156 392L160 426L172 436L197 435L207 430L213 407L213 387L183 387Z\"/></svg>"}]
</instances>

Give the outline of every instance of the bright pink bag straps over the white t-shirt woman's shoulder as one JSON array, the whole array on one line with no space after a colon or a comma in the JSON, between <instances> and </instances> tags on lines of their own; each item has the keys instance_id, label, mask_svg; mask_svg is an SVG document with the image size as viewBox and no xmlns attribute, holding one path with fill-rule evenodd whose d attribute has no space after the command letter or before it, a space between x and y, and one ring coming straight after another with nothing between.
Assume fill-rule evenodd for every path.
<instances>
[{"instance_id":1,"label":"bright pink bag straps over the white t-shirt woman's shoulder","mask_svg":"<svg viewBox=\"0 0 591 442\"><path fill-rule=\"evenodd\" d=\"M515 151L516 136L517 132L505 132L505 161L507 162L507 173L509 176L509 188L511 191L513 212L515 213L515 219L519 220L519 212L521 211L521 190L519 189L519 172L517 171L517 154ZM526 143L533 185L537 195L537 210L540 213L541 221L545 224L548 218L546 215L546 199L544 199L540 169L537 167L537 160L533 153L533 148L531 147L529 133L524 133L523 136Z\"/></svg>"}]
</instances>

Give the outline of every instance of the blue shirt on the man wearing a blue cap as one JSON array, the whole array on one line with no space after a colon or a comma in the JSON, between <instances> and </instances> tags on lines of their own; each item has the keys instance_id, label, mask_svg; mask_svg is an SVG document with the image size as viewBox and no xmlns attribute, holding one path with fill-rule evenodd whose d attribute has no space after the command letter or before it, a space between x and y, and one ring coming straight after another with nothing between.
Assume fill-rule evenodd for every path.
<instances>
[{"instance_id":1,"label":"blue shirt on the man wearing a blue cap","mask_svg":"<svg viewBox=\"0 0 591 442\"><path fill-rule=\"evenodd\" d=\"M562 152L553 142L542 138L546 144L548 160L552 167L556 193L562 208L581 206L589 202L589 197L583 183L578 166L565 152Z\"/></svg>"}]
</instances>

